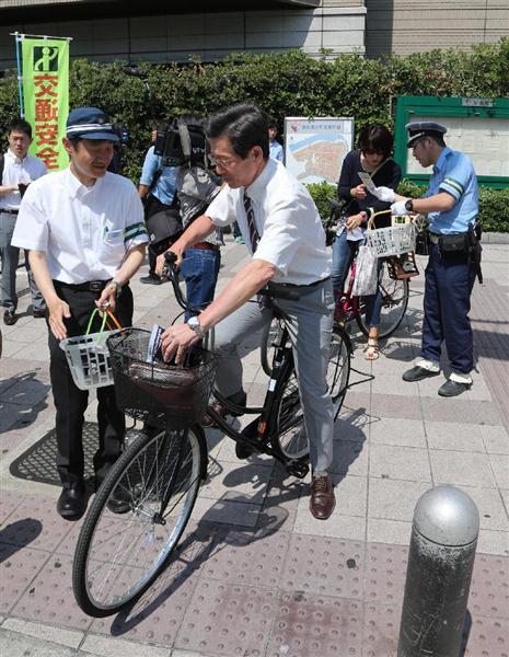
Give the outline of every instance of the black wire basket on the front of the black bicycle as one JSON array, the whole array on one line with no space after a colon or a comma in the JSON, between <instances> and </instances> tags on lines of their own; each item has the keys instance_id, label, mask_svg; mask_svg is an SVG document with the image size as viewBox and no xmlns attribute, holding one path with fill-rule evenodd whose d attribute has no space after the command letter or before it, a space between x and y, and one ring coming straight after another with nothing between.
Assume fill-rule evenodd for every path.
<instances>
[{"instance_id":1,"label":"black wire basket on the front of the black bicycle","mask_svg":"<svg viewBox=\"0 0 509 657\"><path fill-rule=\"evenodd\" d=\"M127 415L161 428L186 428L208 406L218 357L196 348L196 365L147 362L150 331L128 328L112 335L111 354L117 404Z\"/></svg>"}]
</instances>

